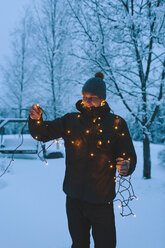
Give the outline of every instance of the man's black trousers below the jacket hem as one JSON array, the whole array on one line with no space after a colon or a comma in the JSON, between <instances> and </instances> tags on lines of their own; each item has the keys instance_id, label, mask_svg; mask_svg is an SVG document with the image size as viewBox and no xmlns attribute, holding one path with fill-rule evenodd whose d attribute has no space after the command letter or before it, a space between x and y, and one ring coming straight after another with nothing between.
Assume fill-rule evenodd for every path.
<instances>
[{"instance_id":1,"label":"man's black trousers below the jacket hem","mask_svg":"<svg viewBox=\"0 0 165 248\"><path fill-rule=\"evenodd\" d=\"M95 248L116 247L113 203L92 204L67 196L66 211L72 248L90 247L91 228Z\"/></svg>"}]
</instances>

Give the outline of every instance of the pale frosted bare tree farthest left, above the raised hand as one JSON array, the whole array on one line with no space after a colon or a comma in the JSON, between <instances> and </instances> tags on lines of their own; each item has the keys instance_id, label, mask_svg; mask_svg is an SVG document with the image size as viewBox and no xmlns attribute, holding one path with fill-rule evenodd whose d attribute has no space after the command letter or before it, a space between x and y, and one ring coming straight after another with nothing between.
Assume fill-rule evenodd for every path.
<instances>
[{"instance_id":1,"label":"pale frosted bare tree farthest left, above the raised hand","mask_svg":"<svg viewBox=\"0 0 165 248\"><path fill-rule=\"evenodd\" d=\"M35 63L31 56L31 18L29 10L12 33L12 55L3 65L3 86L10 107L18 109L22 117L23 108L29 104L31 82L34 80Z\"/></svg>"}]
</instances>

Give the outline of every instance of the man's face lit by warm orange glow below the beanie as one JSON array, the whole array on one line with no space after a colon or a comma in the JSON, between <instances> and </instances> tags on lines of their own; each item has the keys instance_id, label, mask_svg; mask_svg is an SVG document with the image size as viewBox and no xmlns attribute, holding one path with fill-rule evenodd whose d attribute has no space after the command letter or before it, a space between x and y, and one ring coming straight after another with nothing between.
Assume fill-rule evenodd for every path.
<instances>
[{"instance_id":1,"label":"man's face lit by warm orange glow below the beanie","mask_svg":"<svg viewBox=\"0 0 165 248\"><path fill-rule=\"evenodd\" d=\"M84 104L85 108L99 107L101 106L102 101L103 99L91 93L88 92L83 93L82 103Z\"/></svg>"}]
</instances>

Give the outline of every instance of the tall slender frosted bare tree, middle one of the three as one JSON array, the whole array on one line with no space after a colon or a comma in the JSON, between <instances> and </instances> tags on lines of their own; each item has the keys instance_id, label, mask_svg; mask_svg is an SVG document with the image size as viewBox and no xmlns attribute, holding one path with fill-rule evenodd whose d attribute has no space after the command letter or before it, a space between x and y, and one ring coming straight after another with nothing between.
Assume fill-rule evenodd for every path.
<instances>
[{"instance_id":1,"label":"tall slender frosted bare tree, middle one of the three","mask_svg":"<svg viewBox=\"0 0 165 248\"><path fill-rule=\"evenodd\" d=\"M35 56L40 65L39 85L44 89L46 105L51 109L53 118L57 117L57 106L65 91L64 47L67 23L62 4L58 0L39 0L34 5L34 41Z\"/></svg>"}]
</instances>

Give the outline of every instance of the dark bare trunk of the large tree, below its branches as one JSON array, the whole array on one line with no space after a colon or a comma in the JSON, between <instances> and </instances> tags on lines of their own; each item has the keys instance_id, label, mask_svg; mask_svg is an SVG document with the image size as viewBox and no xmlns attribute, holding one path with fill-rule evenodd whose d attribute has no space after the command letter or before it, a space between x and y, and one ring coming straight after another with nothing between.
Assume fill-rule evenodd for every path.
<instances>
[{"instance_id":1,"label":"dark bare trunk of the large tree, below its branches","mask_svg":"<svg viewBox=\"0 0 165 248\"><path fill-rule=\"evenodd\" d=\"M151 156L150 156L150 141L147 134L144 134L143 139L143 177L151 178Z\"/></svg>"}]
</instances>

